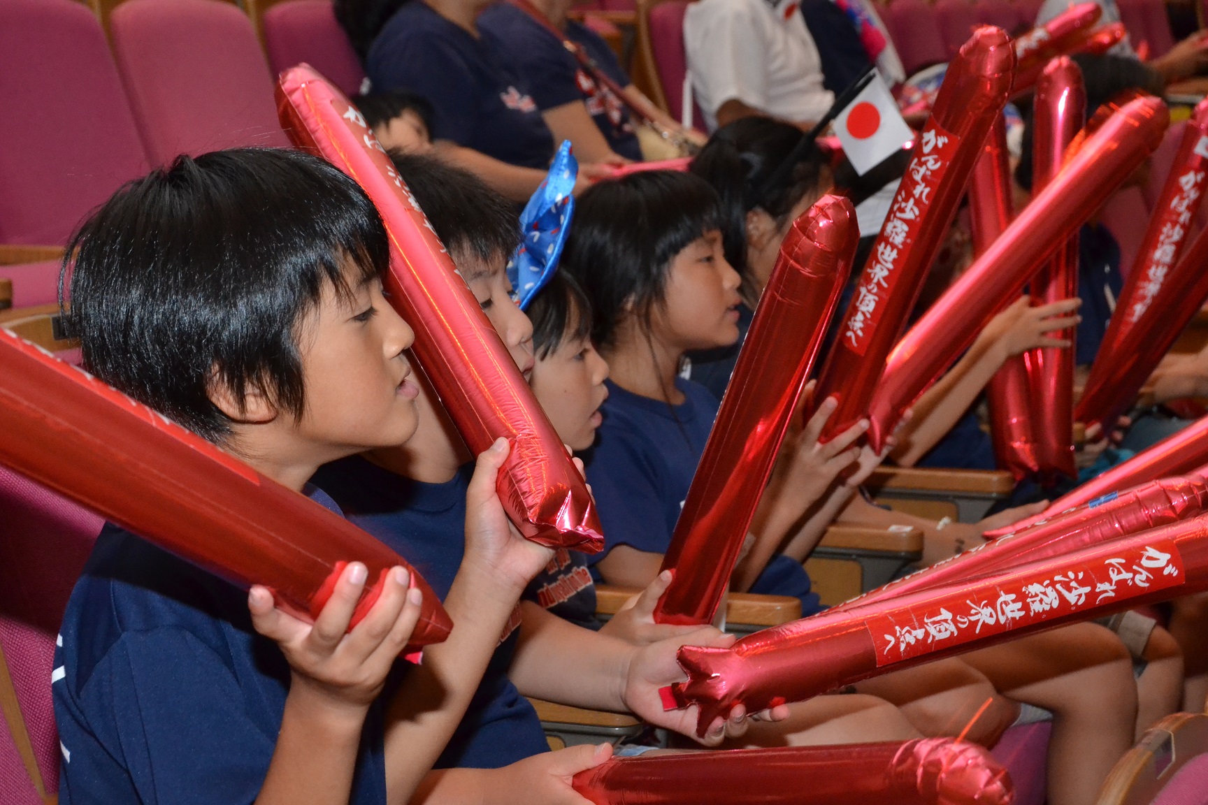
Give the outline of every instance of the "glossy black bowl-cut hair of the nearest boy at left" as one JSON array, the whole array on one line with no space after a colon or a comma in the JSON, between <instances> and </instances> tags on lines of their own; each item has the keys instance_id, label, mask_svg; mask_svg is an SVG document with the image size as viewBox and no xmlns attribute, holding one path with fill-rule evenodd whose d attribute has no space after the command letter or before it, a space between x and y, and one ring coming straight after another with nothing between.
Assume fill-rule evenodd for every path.
<instances>
[{"instance_id":1,"label":"glossy black bowl-cut hair of the nearest boy at left","mask_svg":"<svg viewBox=\"0 0 1208 805\"><path fill-rule=\"evenodd\" d=\"M365 280L389 263L356 182L275 148L178 157L117 191L66 253L60 297L70 282L85 368L213 442L232 424L210 401L215 383L301 416L303 316L326 282L352 292L345 261Z\"/></svg>"}]
</instances>

